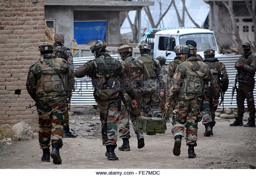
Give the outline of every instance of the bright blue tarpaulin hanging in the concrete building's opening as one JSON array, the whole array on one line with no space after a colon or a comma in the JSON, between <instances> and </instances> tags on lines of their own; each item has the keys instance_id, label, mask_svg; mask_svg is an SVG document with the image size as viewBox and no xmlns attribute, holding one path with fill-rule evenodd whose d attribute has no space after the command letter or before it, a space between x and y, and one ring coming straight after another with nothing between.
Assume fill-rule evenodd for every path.
<instances>
[{"instance_id":1,"label":"bright blue tarpaulin hanging in the concrete building's opening","mask_svg":"<svg viewBox=\"0 0 256 177\"><path fill-rule=\"evenodd\" d=\"M106 21L74 22L74 39L77 44L95 40L105 40Z\"/></svg>"}]
</instances>

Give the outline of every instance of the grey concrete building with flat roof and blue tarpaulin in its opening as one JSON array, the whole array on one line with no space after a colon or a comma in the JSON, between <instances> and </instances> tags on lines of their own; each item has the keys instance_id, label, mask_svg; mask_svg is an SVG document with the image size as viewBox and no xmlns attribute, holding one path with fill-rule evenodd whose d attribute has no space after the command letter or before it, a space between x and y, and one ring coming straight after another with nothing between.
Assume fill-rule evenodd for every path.
<instances>
[{"instance_id":1,"label":"grey concrete building with flat roof and blue tarpaulin in its opening","mask_svg":"<svg viewBox=\"0 0 256 177\"><path fill-rule=\"evenodd\" d=\"M152 5L154 2L123 0L45 0L45 21L53 33L64 33L67 47L75 38L78 44L94 40L120 43L120 12L138 10L140 24L142 7Z\"/></svg>"}]
</instances>

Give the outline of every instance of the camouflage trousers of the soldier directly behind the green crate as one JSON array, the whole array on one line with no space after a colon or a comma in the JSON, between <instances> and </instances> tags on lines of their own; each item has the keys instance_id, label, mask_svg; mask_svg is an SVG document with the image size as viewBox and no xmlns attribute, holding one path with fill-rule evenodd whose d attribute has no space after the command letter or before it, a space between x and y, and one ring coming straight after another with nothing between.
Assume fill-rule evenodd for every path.
<instances>
[{"instance_id":1,"label":"camouflage trousers of the soldier directly behind the green crate","mask_svg":"<svg viewBox=\"0 0 256 177\"><path fill-rule=\"evenodd\" d=\"M159 92L150 92L142 94L142 108L144 116L152 117L162 117L162 110L160 107Z\"/></svg>"}]
</instances>

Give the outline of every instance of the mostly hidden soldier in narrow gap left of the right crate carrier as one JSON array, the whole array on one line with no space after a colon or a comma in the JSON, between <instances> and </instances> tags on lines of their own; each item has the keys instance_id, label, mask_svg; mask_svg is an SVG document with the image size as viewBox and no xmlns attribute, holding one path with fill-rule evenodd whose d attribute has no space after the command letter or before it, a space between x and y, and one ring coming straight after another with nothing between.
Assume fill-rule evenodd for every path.
<instances>
[{"instance_id":1,"label":"mostly hidden soldier in narrow gap left of the right crate carrier","mask_svg":"<svg viewBox=\"0 0 256 177\"><path fill-rule=\"evenodd\" d=\"M166 97L166 94L167 94L167 71L168 71L168 66L165 64L166 58L164 56L159 56L156 59L158 59L160 65L161 65L161 68L162 68L162 72L163 72L164 86L163 86L163 89L160 92L160 101L161 101L160 105L161 105L162 113L163 113L164 112L164 105L165 105L165 97ZM166 122L170 123L170 119L169 119L170 113L169 113L169 111L163 116L165 117Z\"/></svg>"}]
</instances>

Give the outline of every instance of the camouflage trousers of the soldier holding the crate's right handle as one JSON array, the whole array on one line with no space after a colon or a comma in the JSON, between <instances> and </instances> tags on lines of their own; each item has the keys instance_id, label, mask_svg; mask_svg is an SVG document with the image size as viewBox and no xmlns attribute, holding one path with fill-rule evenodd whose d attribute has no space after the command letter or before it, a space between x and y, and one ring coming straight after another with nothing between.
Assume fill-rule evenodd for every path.
<instances>
[{"instance_id":1,"label":"camouflage trousers of the soldier holding the crate's right handle","mask_svg":"<svg viewBox=\"0 0 256 177\"><path fill-rule=\"evenodd\" d=\"M186 128L186 144L187 146L196 146L197 140L197 121L196 116L200 110L201 100L194 98L190 100L177 100L176 107L173 111L174 117L174 137L176 135L184 136L184 130Z\"/></svg>"}]
</instances>

